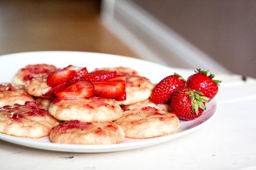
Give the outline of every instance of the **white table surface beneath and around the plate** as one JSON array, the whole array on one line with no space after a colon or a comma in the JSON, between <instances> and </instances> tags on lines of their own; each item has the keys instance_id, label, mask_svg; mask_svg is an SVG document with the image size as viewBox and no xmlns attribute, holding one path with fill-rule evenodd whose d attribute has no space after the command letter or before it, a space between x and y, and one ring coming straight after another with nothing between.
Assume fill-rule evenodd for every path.
<instances>
[{"instance_id":1,"label":"white table surface beneath and around the plate","mask_svg":"<svg viewBox=\"0 0 256 170\"><path fill-rule=\"evenodd\" d=\"M256 169L256 81L223 80L218 113L204 128L156 146L111 153L67 153L0 141L1 169Z\"/></svg>"}]
</instances>

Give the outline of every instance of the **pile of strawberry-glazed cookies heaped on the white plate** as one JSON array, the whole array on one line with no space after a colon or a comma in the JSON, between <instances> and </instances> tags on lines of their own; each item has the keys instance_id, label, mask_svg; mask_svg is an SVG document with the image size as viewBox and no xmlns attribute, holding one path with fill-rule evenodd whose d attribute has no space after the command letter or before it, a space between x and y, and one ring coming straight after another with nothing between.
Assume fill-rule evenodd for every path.
<instances>
[{"instance_id":1,"label":"pile of strawberry-glazed cookies heaped on the white plate","mask_svg":"<svg viewBox=\"0 0 256 170\"><path fill-rule=\"evenodd\" d=\"M66 68L58 69L47 64L29 65L19 69L13 78L15 85L2 84L0 132L18 137L49 136L50 141L56 143L112 144L124 141L125 137L152 138L179 131L178 117L168 112L166 104L150 101L154 84L139 76L134 69L96 69L105 77L107 73L115 72L113 82L125 81L122 95L106 97L104 92L96 92L102 83L88 81L89 76L86 75L90 73L85 71L85 67L83 71L80 67ZM76 71L76 78L71 83L68 83L70 79L60 75L60 72L67 73L67 70ZM50 86L55 83L49 83L52 73L60 75L56 82L63 79L64 82ZM118 76L122 76L121 80ZM91 93L91 88L86 93L85 89L80 92L81 83L78 87L77 81L90 82L95 93ZM111 89L106 88L106 91L109 93Z\"/></svg>"}]
</instances>

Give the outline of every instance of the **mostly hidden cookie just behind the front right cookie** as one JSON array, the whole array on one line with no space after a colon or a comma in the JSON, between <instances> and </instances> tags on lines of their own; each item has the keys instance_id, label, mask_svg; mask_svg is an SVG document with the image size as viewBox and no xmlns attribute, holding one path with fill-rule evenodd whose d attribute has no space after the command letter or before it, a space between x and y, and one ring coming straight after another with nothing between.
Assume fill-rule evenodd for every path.
<instances>
[{"instance_id":1,"label":"mostly hidden cookie just behind the front right cookie","mask_svg":"<svg viewBox=\"0 0 256 170\"><path fill-rule=\"evenodd\" d=\"M147 107L147 106L154 107L154 108L159 109L159 110L164 110L166 112L169 111L169 105L168 104L155 104L155 103L151 102L150 99L147 99L146 101L130 104L130 105L127 105L127 106L123 106L122 108L123 108L124 111L127 111L127 110L132 110L132 109L143 108L143 107Z\"/></svg>"}]
</instances>

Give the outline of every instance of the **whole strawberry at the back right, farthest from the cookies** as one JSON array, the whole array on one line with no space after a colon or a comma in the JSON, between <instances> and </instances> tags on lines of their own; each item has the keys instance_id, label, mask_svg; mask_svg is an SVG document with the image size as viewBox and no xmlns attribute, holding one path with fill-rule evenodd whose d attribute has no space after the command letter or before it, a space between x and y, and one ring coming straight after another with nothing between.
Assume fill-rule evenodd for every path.
<instances>
[{"instance_id":1,"label":"whole strawberry at the back right, farthest from the cookies","mask_svg":"<svg viewBox=\"0 0 256 170\"><path fill-rule=\"evenodd\" d=\"M187 85L191 89L204 93L204 96L213 98L218 92L218 85L221 81L213 80L214 74L207 76L209 71L201 71L196 69L196 73L190 76L187 80Z\"/></svg>"}]
</instances>

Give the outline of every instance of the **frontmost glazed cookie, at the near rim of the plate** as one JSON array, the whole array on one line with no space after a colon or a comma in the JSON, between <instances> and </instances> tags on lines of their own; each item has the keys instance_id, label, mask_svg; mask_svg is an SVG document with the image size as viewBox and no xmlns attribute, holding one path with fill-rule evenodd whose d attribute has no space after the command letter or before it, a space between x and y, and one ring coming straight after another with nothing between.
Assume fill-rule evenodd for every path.
<instances>
[{"instance_id":1,"label":"frontmost glazed cookie, at the near rim of the plate","mask_svg":"<svg viewBox=\"0 0 256 170\"><path fill-rule=\"evenodd\" d=\"M124 140L125 134L113 122L67 121L54 127L50 141L69 144L112 144Z\"/></svg>"}]
</instances>

